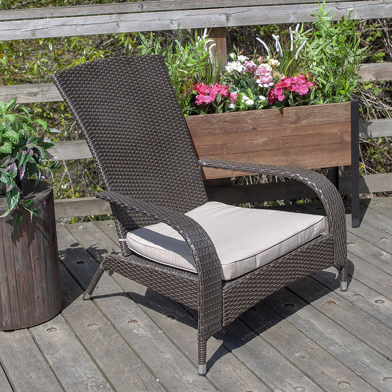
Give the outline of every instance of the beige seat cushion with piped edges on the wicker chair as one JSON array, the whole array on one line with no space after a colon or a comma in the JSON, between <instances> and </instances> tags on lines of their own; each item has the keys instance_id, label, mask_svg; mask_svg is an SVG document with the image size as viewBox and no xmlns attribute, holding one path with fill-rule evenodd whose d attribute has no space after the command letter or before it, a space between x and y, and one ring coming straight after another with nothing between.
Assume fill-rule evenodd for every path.
<instances>
[{"instance_id":1,"label":"beige seat cushion with piped edges on the wicker chair","mask_svg":"<svg viewBox=\"0 0 392 392\"><path fill-rule=\"evenodd\" d=\"M261 267L325 230L325 218L317 215L241 208L216 201L186 215L210 236L221 260L224 280ZM147 259L196 272L189 246L166 223L129 232L126 243Z\"/></svg>"}]
</instances>

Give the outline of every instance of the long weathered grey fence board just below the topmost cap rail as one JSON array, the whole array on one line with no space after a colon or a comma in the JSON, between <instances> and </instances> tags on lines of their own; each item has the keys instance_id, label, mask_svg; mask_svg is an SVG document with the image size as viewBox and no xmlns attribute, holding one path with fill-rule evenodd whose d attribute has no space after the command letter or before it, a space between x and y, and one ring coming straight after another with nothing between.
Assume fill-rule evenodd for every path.
<instances>
[{"instance_id":1,"label":"long weathered grey fence board just below the topmost cap rail","mask_svg":"<svg viewBox=\"0 0 392 392\"><path fill-rule=\"evenodd\" d=\"M163 1L162 1L163 2ZM197 1L196 1L197 2ZM263 3L259 1L258 3ZM144 5L145 2L141 3ZM392 0L340 1L329 3L334 20L347 17L374 19L392 17ZM244 25L301 23L314 20L315 3L197 8L175 11L102 13L0 22L0 40L36 39L73 35L210 28ZM68 7L67 7L68 8ZM0 15L1 20L1 15Z\"/></svg>"}]
</instances>

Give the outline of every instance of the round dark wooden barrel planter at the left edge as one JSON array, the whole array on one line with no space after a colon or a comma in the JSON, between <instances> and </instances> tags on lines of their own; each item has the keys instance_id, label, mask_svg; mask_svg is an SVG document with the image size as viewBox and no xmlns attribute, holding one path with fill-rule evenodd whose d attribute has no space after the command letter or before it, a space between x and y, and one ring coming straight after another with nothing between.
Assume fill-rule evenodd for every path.
<instances>
[{"instance_id":1,"label":"round dark wooden barrel planter at the left edge","mask_svg":"<svg viewBox=\"0 0 392 392\"><path fill-rule=\"evenodd\" d=\"M30 221L25 211L14 229L15 213L0 218L0 330L31 327L61 310L59 260L53 192L49 184L25 180L25 198L41 203L44 213ZM2 212L1 212L2 211ZM0 215L6 198L0 195Z\"/></svg>"}]
</instances>

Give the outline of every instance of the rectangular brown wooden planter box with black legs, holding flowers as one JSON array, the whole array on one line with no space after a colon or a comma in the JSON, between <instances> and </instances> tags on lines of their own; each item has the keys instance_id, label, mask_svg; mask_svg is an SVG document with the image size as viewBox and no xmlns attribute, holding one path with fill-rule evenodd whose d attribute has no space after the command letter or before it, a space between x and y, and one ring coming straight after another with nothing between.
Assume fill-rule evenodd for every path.
<instances>
[{"instance_id":1,"label":"rectangular brown wooden planter box with black legs, holding flowers","mask_svg":"<svg viewBox=\"0 0 392 392\"><path fill-rule=\"evenodd\" d=\"M308 169L352 166L353 226L359 225L358 102L207 114L185 118L198 158ZM246 173L202 168L205 179Z\"/></svg>"}]
</instances>

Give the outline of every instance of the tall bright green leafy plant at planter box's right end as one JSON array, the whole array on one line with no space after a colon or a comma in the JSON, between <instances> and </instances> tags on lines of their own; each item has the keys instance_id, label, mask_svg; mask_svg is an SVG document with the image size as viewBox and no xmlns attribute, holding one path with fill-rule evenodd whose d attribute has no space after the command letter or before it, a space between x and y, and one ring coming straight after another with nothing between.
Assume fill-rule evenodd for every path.
<instances>
[{"instance_id":1,"label":"tall bright green leafy plant at planter box's right end","mask_svg":"<svg viewBox=\"0 0 392 392\"><path fill-rule=\"evenodd\" d=\"M310 72L318 88L315 103L343 102L351 99L358 84L358 71L366 54L357 37L359 21L342 19L333 23L326 11L325 2L313 15L314 32L306 50L301 52L304 63L310 64ZM351 13L350 13L351 14Z\"/></svg>"}]
</instances>

